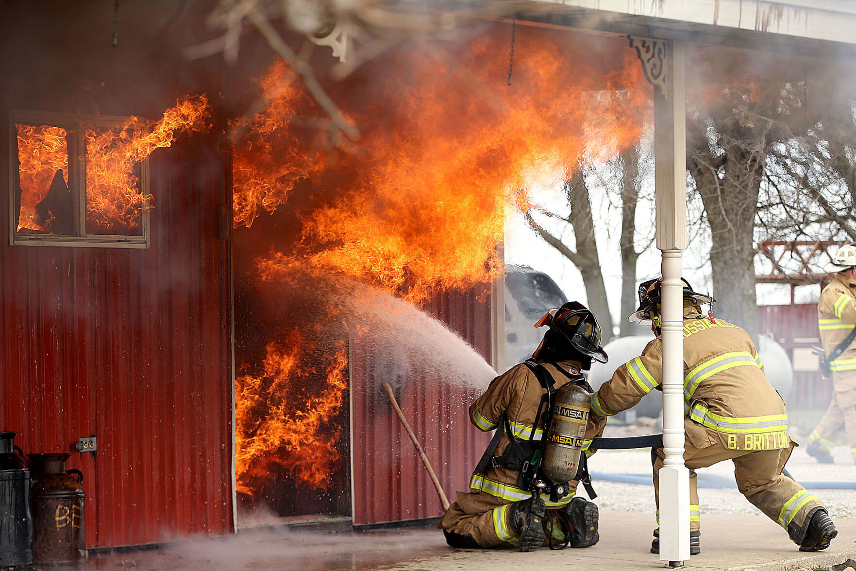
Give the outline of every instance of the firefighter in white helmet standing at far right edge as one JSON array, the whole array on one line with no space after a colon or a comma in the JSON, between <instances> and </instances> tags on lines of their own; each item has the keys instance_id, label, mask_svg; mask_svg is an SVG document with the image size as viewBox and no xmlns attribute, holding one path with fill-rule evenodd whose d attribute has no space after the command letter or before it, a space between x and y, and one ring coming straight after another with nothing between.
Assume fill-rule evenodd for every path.
<instances>
[{"instance_id":1,"label":"firefighter in white helmet standing at far right edge","mask_svg":"<svg viewBox=\"0 0 856 571\"><path fill-rule=\"evenodd\" d=\"M817 302L817 325L835 392L829 408L809 436L806 452L831 464L829 451L844 427L856 460L856 247L847 244L823 269L835 272Z\"/></svg>"}]
</instances>

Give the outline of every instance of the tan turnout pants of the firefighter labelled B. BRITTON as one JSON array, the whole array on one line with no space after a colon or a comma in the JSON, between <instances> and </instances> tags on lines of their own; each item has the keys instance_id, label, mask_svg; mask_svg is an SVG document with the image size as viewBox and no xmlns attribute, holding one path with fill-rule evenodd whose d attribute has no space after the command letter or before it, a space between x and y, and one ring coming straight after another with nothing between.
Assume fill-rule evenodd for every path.
<instances>
[{"instance_id":1,"label":"tan turnout pants of the firefighter labelled B. BRITTON","mask_svg":"<svg viewBox=\"0 0 856 571\"><path fill-rule=\"evenodd\" d=\"M701 517L698 508L698 478L696 469L713 466L722 460L734 462L734 479L737 488L753 506L788 531L794 522L805 530L805 516L812 508L823 507L817 496L812 495L791 478L782 475L782 469L794 449L774 450L731 450L722 444L711 444L695 448L687 440L684 443L684 465L690 470L690 530L700 529ZM654 497L657 501L657 524L660 521L659 470L663 467L665 452L659 448L652 454L654 461ZM655 533L657 531L655 530Z\"/></svg>"}]
</instances>

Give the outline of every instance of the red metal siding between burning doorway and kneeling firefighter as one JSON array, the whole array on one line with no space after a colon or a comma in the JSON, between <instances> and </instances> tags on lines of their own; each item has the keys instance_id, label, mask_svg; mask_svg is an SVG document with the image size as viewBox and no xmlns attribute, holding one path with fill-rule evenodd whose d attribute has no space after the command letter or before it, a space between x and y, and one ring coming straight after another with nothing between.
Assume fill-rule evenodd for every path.
<instances>
[{"instance_id":1,"label":"red metal siding between burning doorway and kneeling firefighter","mask_svg":"<svg viewBox=\"0 0 856 571\"><path fill-rule=\"evenodd\" d=\"M461 334L490 361L490 300L484 294L444 295L425 310ZM383 356L351 343L351 394L354 466L354 524L418 520L443 514L437 492L407 432L395 416L383 382ZM411 370L395 390L449 501L467 490L470 474L490 434L470 423L467 409L481 389L455 384L455 371L434 378Z\"/></svg>"}]
</instances>

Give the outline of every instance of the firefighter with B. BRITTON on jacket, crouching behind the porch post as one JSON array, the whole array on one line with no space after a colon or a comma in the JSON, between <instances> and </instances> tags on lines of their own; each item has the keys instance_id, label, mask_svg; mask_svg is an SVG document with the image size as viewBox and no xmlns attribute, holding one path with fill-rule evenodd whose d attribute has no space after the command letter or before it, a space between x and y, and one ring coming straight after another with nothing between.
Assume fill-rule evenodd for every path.
<instances>
[{"instance_id":1,"label":"firefighter with B. BRITTON on jacket, crouching behind the porch post","mask_svg":"<svg viewBox=\"0 0 856 571\"><path fill-rule=\"evenodd\" d=\"M740 493L776 521L800 551L823 550L837 531L823 503L782 475L795 443L788 436L785 403L764 376L764 365L752 338L743 329L704 315L701 305L714 301L693 292L682 279L684 299L684 463L690 471L690 553L700 551L700 518L696 473L722 460L734 462ZM591 395L590 423L635 406L645 394L661 387L660 290L663 279L639 286L639 309L630 321L651 321L657 334L640 357L622 364L609 381ZM652 450L654 495L659 524L658 472L663 448ZM660 552L659 529L651 552Z\"/></svg>"}]
</instances>

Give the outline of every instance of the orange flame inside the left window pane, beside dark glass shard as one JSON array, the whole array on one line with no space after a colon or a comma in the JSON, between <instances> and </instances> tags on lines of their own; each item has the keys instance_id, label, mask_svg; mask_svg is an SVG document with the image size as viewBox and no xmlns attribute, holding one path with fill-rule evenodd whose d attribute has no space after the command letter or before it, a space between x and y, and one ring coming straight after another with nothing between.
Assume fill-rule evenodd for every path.
<instances>
[{"instance_id":1,"label":"orange flame inside the left window pane, beside dark glass shard","mask_svg":"<svg viewBox=\"0 0 856 571\"><path fill-rule=\"evenodd\" d=\"M21 215L15 231L27 228L49 231L33 220L36 205L45 199L51 189L51 180L56 171L68 184L68 135L65 129L51 125L22 125L15 123L18 131L18 160L21 165Z\"/></svg>"}]
</instances>

